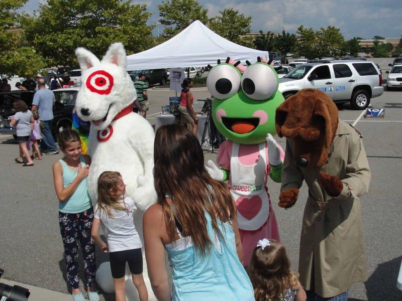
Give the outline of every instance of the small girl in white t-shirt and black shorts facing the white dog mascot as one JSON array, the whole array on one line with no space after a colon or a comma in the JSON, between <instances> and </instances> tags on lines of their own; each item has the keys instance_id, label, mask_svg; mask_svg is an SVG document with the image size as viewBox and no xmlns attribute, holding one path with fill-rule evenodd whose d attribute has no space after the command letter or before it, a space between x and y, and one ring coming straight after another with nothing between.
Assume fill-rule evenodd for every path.
<instances>
[{"instance_id":1,"label":"small girl in white t-shirt and black shorts facing the white dog mascot","mask_svg":"<svg viewBox=\"0 0 402 301\"><path fill-rule=\"evenodd\" d=\"M128 262L133 282L141 301L148 300L142 277L141 239L134 226L132 211L137 209L130 197L125 197L126 184L118 172L103 172L97 180L98 200L95 205L91 236L104 252L109 251L116 301L125 301L125 270ZM99 236L99 226L108 229L108 244Z\"/></svg>"}]
</instances>

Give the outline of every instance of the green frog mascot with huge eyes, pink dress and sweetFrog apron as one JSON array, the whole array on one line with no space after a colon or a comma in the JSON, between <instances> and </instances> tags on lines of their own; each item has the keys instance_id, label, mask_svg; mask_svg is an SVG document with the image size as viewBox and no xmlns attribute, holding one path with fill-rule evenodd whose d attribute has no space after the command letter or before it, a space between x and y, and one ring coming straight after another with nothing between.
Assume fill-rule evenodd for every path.
<instances>
[{"instance_id":1,"label":"green frog mascot with huge eyes, pink dress and sweetFrog apron","mask_svg":"<svg viewBox=\"0 0 402 301\"><path fill-rule=\"evenodd\" d=\"M227 138L218 152L217 167L206 167L216 180L229 180L238 211L243 244L243 265L248 266L258 240L279 241L275 214L269 199L268 175L280 182L283 149L272 137L275 110L284 101L277 90L278 76L266 61L248 66L230 58L213 67L207 87L214 97L212 117Z\"/></svg>"}]
</instances>

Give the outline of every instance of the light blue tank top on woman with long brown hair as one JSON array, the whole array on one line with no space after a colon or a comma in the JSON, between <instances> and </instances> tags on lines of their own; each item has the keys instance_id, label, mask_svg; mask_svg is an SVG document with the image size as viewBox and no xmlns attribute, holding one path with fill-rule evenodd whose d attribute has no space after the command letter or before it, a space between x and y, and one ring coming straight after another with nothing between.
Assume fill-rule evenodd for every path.
<instances>
[{"instance_id":1,"label":"light blue tank top on woman with long brown hair","mask_svg":"<svg viewBox=\"0 0 402 301\"><path fill-rule=\"evenodd\" d=\"M236 252L235 234L229 223L217 220L224 242L212 227L207 213L207 230L214 245L206 257L198 254L190 237L181 237L165 248L173 269L173 301L254 301L250 279Z\"/></svg>"}]
</instances>

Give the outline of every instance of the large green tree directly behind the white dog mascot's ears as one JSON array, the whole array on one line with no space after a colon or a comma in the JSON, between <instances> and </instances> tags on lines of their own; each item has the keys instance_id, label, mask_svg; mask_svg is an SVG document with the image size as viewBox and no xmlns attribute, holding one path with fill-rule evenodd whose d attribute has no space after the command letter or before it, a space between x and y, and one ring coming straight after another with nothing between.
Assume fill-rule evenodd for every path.
<instances>
[{"instance_id":1,"label":"large green tree directly behind the white dog mascot's ears","mask_svg":"<svg viewBox=\"0 0 402 301\"><path fill-rule=\"evenodd\" d=\"M146 5L119 0L48 0L38 16L24 21L27 40L50 65L77 66L77 47L102 57L110 44L122 42L127 54L153 46L153 25L146 25Z\"/></svg>"}]
</instances>

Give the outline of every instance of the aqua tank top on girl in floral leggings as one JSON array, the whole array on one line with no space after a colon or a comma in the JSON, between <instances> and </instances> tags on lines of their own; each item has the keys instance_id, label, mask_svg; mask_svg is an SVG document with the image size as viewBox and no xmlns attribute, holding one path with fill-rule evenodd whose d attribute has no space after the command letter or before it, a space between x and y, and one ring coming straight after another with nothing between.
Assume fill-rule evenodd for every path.
<instances>
[{"instance_id":1,"label":"aqua tank top on girl in floral leggings","mask_svg":"<svg viewBox=\"0 0 402 301\"><path fill-rule=\"evenodd\" d=\"M86 165L82 155L79 156L79 161L81 162L82 167ZM63 185L64 188L66 188L77 177L78 170L70 170L62 159L60 159L59 162L63 167ZM91 207L92 204L88 195L86 177L81 180L77 189L67 200L65 200L65 202L59 202L59 211L63 213L80 213L88 210Z\"/></svg>"}]
</instances>

